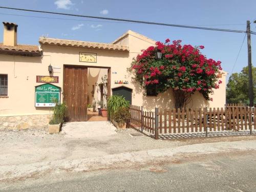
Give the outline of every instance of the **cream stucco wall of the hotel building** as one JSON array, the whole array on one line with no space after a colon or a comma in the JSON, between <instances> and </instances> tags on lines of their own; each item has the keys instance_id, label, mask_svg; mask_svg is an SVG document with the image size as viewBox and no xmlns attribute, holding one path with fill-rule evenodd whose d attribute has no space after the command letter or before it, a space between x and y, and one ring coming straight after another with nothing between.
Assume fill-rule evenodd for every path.
<instances>
[{"instance_id":1,"label":"cream stucco wall of the hotel building","mask_svg":"<svg viewBox=\"0 0 256 192\"><path fill-rule=\"evenodd\" d=\"M59 76L59 83L54 84L61 88L61 100L64 65L110 67L111 88L122 86L115 84L114 82L116 80L127 80L129 83L125 84L125 87L133 90L133 105L143 105L146 110L154 110L155 106L159 108L173 108L174 98L172 90L159 94L157 97L144 96L142 88L136 82L132 81L132 75L127 72L127 68L131 66L133 57L141 53L141 49L146 49L154 45L155 41L130 32L116 41L115 44L129 46L130 52L42 45L42 57L0 55L0 74L8 74L9 96L9 98L0 98L0 115L11 116L50 113L49 108L36 108L34 106L35 86L42 84L36 83L36 75L49 75L48 66L50 63L53 66L53 76ZM97 63L79 62L79 52L97 53ZM93 73L93 70L91 72ZM102 75L103 70L99 74ZM222 75L222 81L223 83L220 89L216 90L212 96L214 101L207 102L201 94L195 93L191 102L188 104L189 107L223 107L225 104L225 75Z\"/></svg>"}]
</instances>

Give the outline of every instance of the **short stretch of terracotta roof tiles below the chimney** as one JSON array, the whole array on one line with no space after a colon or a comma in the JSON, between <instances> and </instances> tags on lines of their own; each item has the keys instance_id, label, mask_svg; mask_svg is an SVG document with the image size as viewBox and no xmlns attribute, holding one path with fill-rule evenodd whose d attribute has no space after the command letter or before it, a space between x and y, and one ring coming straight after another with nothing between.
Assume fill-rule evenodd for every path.
<instances>
[{"instance_id":1,"label":"short stretch of terracotta roof tiles below the chimney","mask_svg":"<svg viewBox=\"0 0 256 192\"><path fill-rule=\"evenodd\" d=\"M39 50L38 46L34 46L34 45L6 46L3 44L3 42L0 42L0 51L1 50L10 51L10 53L11 51L15 51L16 53L18 52L41 53L41 50Z\"/></svg>"}]
</instances>

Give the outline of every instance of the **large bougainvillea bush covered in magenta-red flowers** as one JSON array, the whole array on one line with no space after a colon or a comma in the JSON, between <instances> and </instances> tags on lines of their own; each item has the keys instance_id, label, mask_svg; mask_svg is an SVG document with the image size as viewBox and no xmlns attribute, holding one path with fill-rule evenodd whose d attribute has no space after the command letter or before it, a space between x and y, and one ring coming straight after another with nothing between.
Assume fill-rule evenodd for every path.
<instances>
[{"instance_id":1,"label":"large bougainvillea bush covered in magenta-red flowers","mask_svg":"<svg viewBox=\"0 0 256 192\"><path fill-rule=\"evenodd\" d=\"M181 40L172 44L169 39L165 43L158 41L133 59L131 70L145 89L156 86L158 94L172 88L176 108L185 108L196 91L212 100L209 94L221 83L221 61L207 59L201 49L204 46L182 46ZM157 50L162 52L161 59L155 58Z\"/></svg>"}]
</instances>

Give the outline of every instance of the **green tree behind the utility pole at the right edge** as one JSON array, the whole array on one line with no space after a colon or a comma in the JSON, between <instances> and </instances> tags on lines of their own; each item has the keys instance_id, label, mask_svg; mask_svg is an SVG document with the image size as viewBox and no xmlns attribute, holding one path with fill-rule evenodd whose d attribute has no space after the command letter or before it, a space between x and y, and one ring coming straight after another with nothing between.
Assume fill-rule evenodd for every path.
<instances>
[{"instance_id":1,"label":"green tree behind the utility pole at the right edge","mask_svg":"<svg viewBox=\"0 0 256 192\"><path fill-rule=\"evenodd\" d=\"M256 68L252 67L254 102L256 101ZM228 79L226 90L227 103L249 103L248 67L240 73L233 73Z\"/></svg>"}]
</instances>

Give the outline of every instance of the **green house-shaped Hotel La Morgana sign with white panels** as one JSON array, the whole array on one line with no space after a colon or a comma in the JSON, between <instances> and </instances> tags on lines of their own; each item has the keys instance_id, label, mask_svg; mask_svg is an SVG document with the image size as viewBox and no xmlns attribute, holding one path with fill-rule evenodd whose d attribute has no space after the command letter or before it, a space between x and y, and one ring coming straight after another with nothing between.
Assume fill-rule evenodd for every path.
<instances>
[{"instance_id":1,"label":"green house-shaped Hotel La Morgana sign with white panels","mask_svg":"<svg viewBox=\"0 0 256 192\"><path fill-rule=\"evenodd\" d=\"M35 106L55 106L60 101L60 88L46 83L35 87Z\"/></svg>"}]
</instances>

